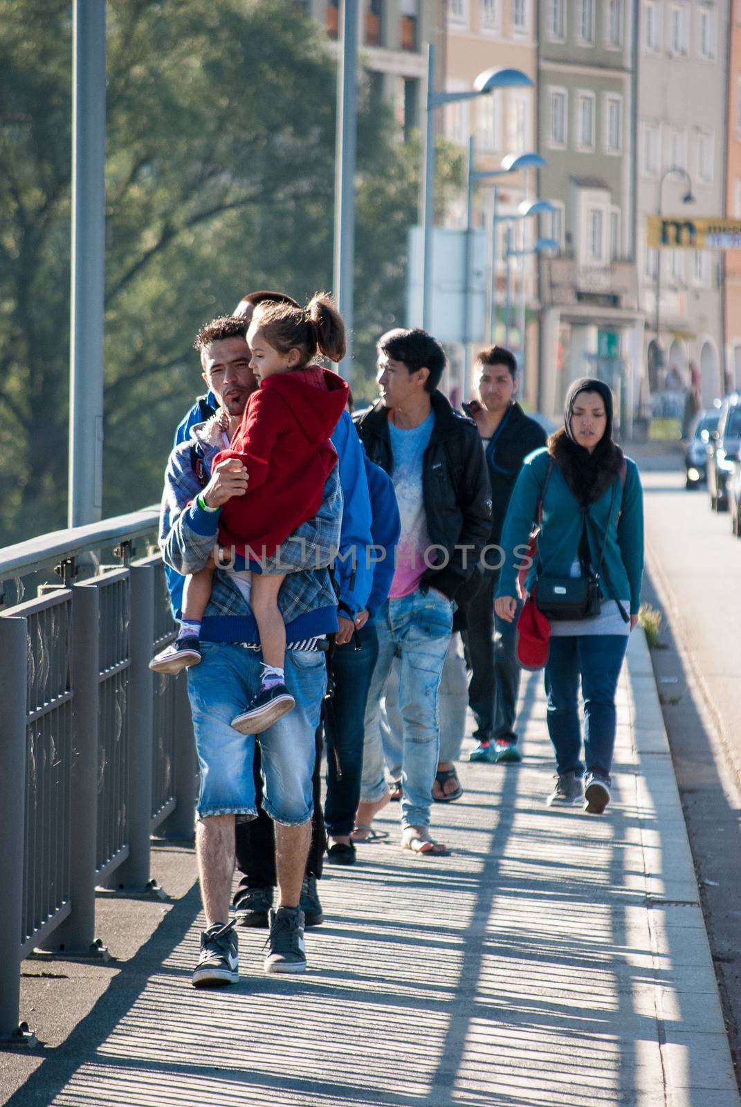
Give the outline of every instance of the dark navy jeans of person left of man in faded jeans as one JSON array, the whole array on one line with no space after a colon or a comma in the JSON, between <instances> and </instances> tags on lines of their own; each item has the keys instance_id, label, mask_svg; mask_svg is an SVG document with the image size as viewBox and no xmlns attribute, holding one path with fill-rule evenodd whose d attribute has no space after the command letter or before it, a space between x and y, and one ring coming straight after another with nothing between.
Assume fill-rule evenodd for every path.
<instances>
[{"instance_id":1,"label":"dark navy jeans of person left of man in faded jeans","mask_svg":"<svg viewBox=\"0 0 741 1107\"><path fill-rule=\"evenodd\" d=\"M353 641L338 645L335 650L332 658L335 695L328 702L325 718L327 737L325 825L332 837L349 835L354 826L363 766L363 716L378 658L375 627L363 627L357 634L359 650L356 650Z\"/></svg>"}]
</instances>

